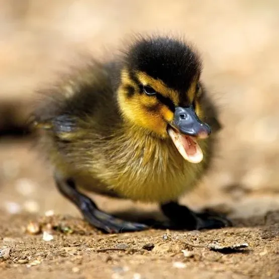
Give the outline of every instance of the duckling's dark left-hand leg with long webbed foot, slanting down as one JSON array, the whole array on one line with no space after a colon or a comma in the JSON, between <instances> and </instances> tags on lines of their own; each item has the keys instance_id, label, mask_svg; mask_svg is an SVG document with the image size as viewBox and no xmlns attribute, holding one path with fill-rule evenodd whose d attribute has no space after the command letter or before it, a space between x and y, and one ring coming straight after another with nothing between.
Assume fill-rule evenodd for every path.
<instances>
[{"instance_id":1,"label":"duckling's dark left-hand leg with long webbed foot, slanting down","mask_svg":"<svg viewBox=\"0 0 279 279\"><path fill-rule=\"evenodd\" d=\"M58 172L54 174L54 178L61 194L77 206L90 225L108 233L141 231L148 228L146 225L126 222L99 210L91 199L76 190L73 179L65 178Z\"/></svg>"}]
</instances>

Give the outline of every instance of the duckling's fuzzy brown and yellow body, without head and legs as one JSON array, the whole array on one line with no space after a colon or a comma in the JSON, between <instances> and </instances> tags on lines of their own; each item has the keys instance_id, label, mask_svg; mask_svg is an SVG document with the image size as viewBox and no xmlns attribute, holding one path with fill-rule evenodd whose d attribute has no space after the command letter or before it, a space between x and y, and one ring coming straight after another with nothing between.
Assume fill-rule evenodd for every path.
<instances>
[{"instance_id":1,"label":"duckling's fuzzy brown and yellow body, without head and legs","mask_svg":"<svg viewBox=\"0 0 279 279\"><path fill-rule=\"evenodd\" d=\"M201 163L185 161L169 137L133 123L121 112L125 100L119 104L120 92L114 87L121 87L116 74L121 69L121 63L104 64L101 70L90 65L52 89L53 99L35 113L43 148L54 167L80 188L142 202L176 200L207 169L214 135L199 141ZM215 108L207 99L200 97L199 110L218 128Z\"/></svg>"}]
</instances>

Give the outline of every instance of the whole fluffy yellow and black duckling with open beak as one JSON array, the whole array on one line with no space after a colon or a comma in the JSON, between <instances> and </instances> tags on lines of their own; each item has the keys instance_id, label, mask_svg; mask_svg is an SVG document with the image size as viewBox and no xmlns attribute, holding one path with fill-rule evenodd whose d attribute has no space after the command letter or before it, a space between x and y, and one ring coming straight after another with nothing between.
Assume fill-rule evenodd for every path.
<instances>
[{"instance_id":1,"label":"whole fluffy yellow and black duckling with open beak","mask_svg":"<svg viewBox=\"0 0 279 279\"><path fill-rule=\"evenodd\" d=\"M158 203L169 228L231 225L178 204L210 165L221 128L201 71L184 40L139 36L114 61L92 60L50 86L33 126L58 190L90 225L108 233L149 227L103 212L82 190Z\"/></svg>"}]
</instances>

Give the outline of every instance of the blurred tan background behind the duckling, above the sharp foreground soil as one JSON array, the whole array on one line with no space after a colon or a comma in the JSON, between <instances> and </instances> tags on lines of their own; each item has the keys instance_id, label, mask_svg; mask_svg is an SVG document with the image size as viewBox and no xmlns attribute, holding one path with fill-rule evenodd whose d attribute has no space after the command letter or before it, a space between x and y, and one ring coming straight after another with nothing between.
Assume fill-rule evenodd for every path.
<instances>
[{"instance_id":1,"label":"blurred tan background behind the duckling, above the sharp foreground soil","mask_svg":"<svg viewBox=\"0 0 279 279\"><path fill-rule=\"evenodd\" d=\"M194 42L220 109L218 157L183 202L221 206L234 216L279 208L278 1L0 0L0 11L1 210L78 214L57 193L51 167L23 132L35 89L75 53L99 57L138 31L183 34ZM120 209L105 198L98 203Z\"/></svg>"}]
</instances>

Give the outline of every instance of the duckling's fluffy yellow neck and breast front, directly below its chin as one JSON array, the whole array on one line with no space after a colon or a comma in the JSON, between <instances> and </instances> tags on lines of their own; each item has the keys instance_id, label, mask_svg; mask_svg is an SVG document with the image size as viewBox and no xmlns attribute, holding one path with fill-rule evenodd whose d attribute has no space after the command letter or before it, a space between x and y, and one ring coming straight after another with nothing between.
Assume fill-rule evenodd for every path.
<instances>
[{"instance_id":1,"label":"duckling's fluffy yellow neck and breast front, directly below its chin","mask_svg":"<svg viewBox=\"0 0 279 279\"><path fill-rule=\"evenodd\" d=\"M203 169L203 163L185 161L170 139L130 123L123 123L109 146L106 160L111 176L107 182L120 196L132 200L174 200L193 187Z\"/></svg>"}]
</instances>

